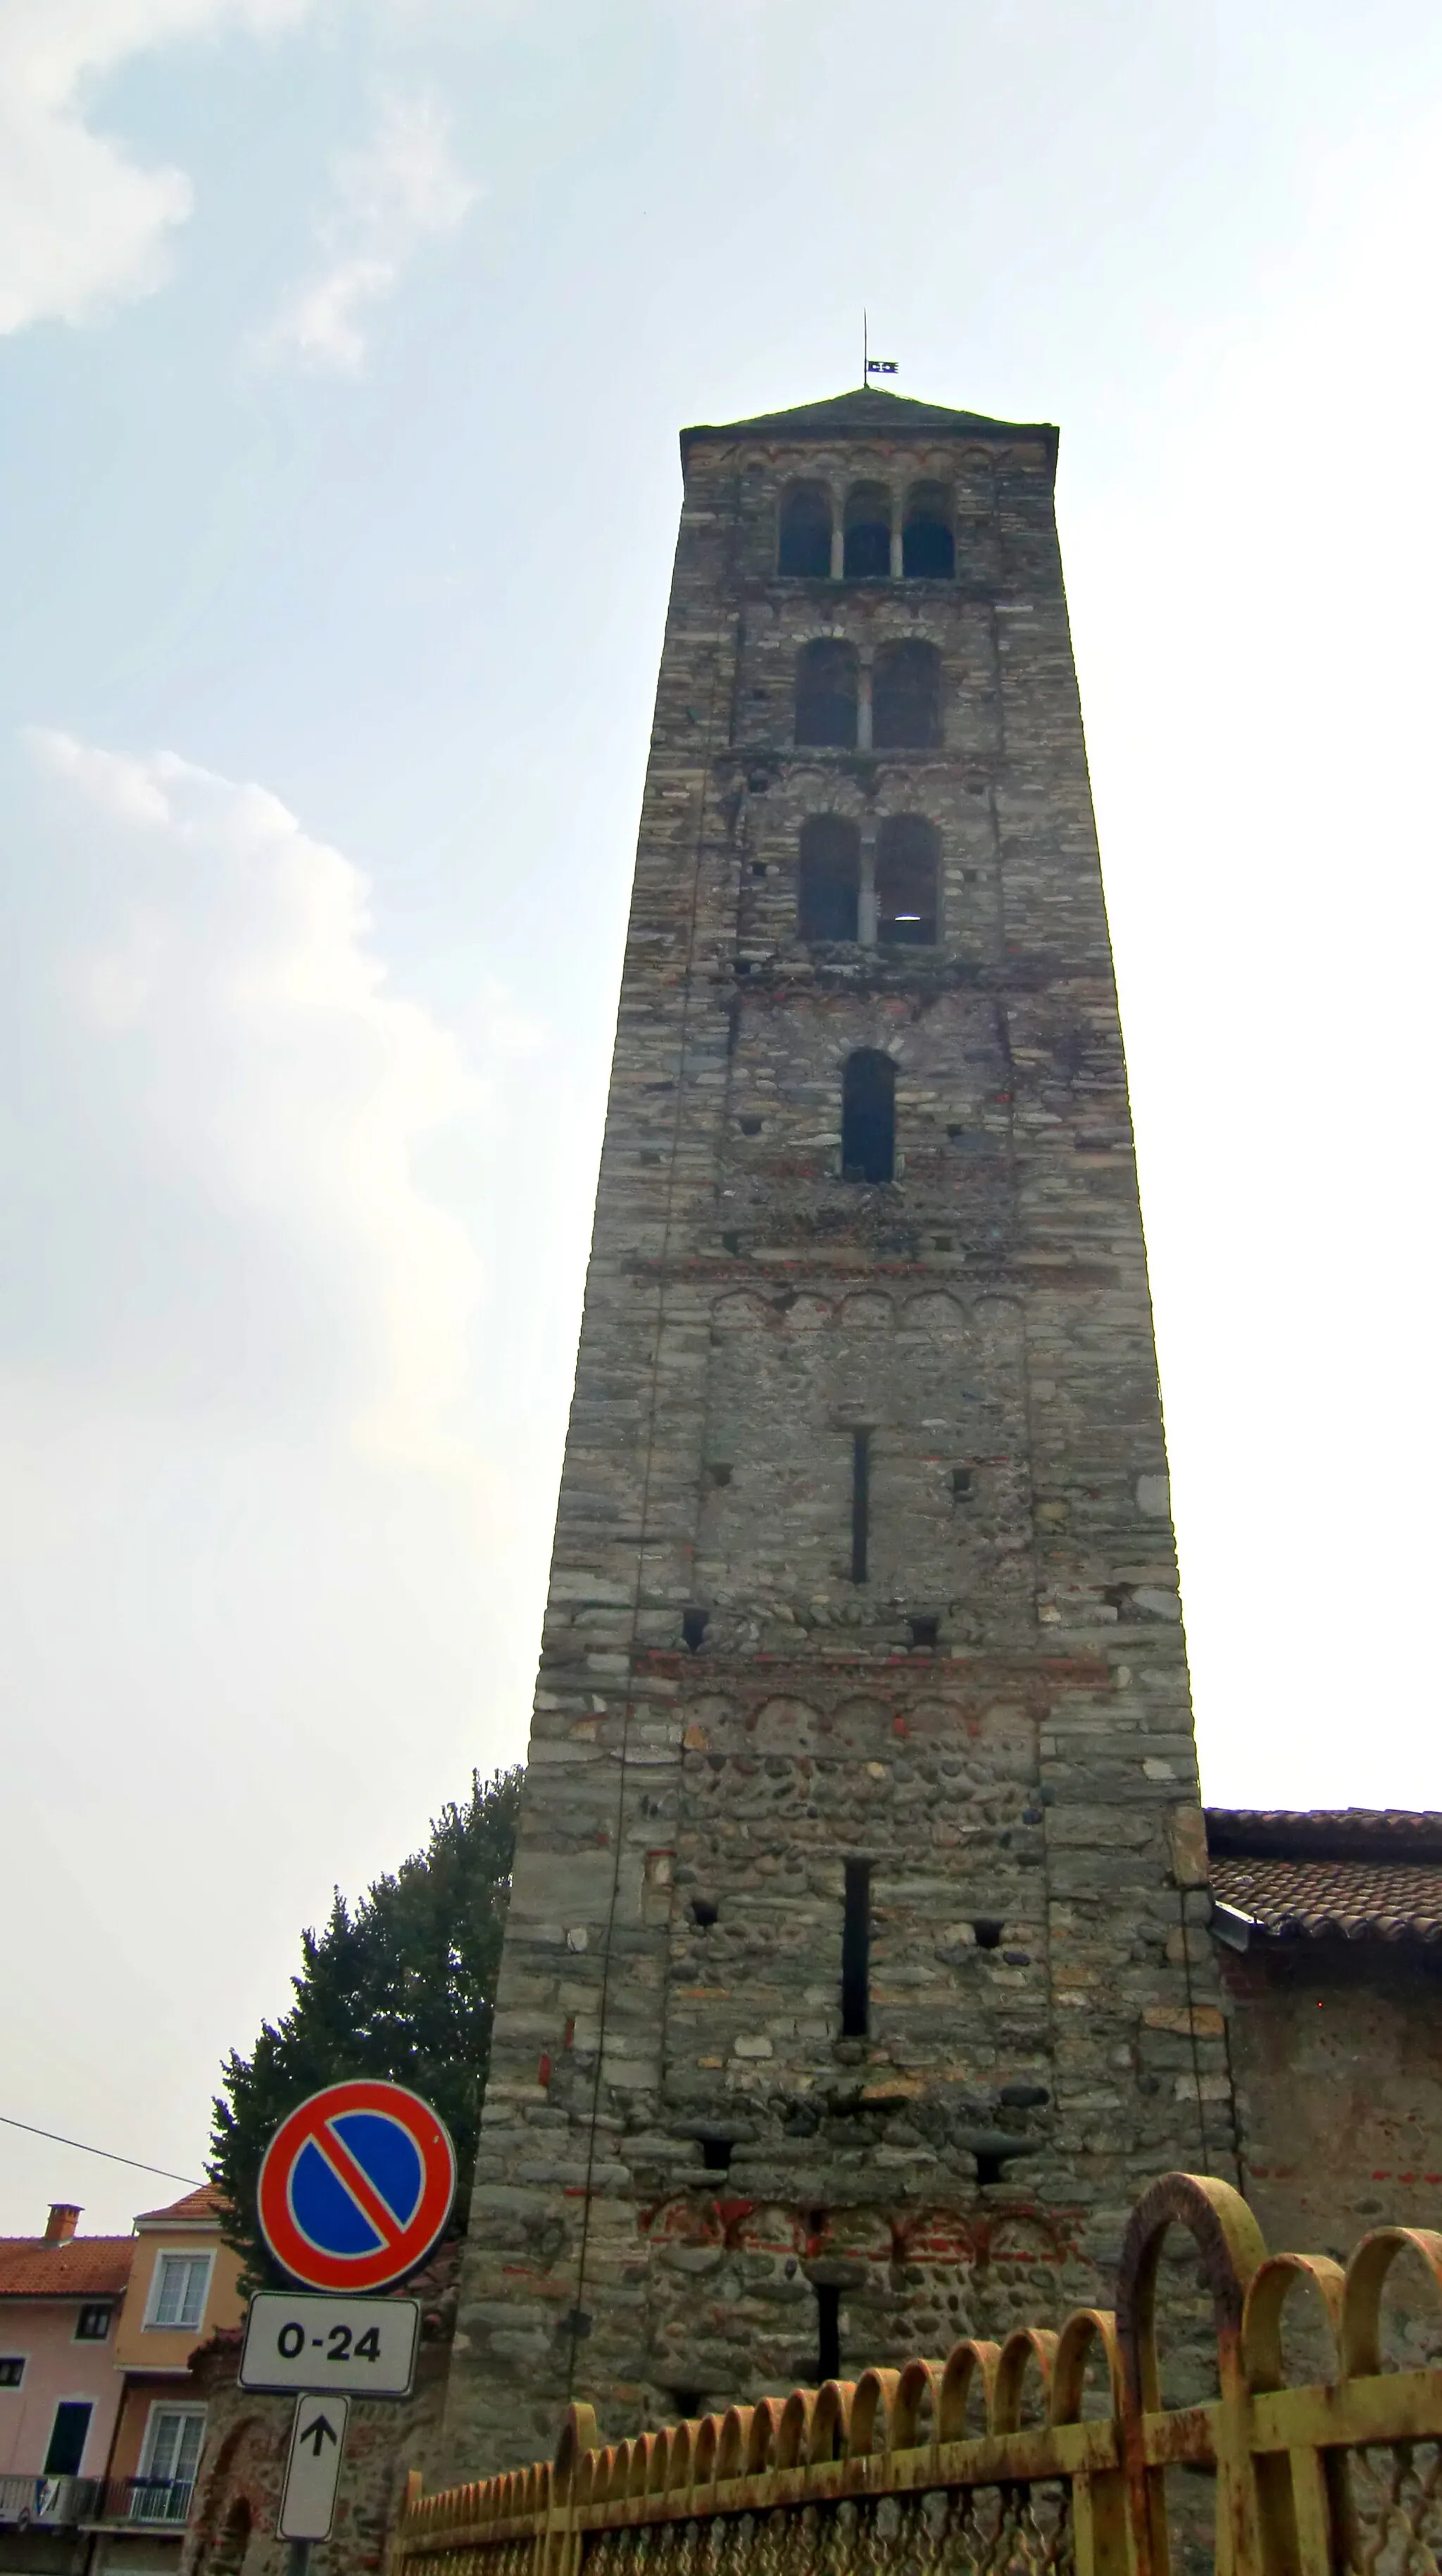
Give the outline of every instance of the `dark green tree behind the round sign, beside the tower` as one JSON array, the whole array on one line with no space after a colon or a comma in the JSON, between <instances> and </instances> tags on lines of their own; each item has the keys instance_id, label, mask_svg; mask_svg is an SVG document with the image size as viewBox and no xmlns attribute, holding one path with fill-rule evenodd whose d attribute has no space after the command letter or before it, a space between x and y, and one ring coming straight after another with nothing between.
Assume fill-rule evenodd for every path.
<instances>
[{"instance_id":1,"label":"dark green tree behind the round sign, beside the tower","mask_svg":"<svg viewBox=\"0 0 1442 2576\"><path fill-rule=\"evenodd\" d=\"M209 2177L229 2202L227 2236L247 2285L276 2272L255 2223L260 2159L296 2102L342 2076L394 2076L456 2141L453 2231L476 2161L520 1770L471 1772L464 1806L443 1806L422 1852L350 1909L340 1888L324 1932L301 1932L294 2004L265 2022L247 2058L234 2048L211 2123Z\"/></svg>"}]
</instances>

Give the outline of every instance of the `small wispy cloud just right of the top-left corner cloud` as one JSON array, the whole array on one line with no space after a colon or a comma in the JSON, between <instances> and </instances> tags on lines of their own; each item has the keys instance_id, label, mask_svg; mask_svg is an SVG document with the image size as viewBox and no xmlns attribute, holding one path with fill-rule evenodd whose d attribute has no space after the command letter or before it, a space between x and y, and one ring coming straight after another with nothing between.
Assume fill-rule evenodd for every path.
<instances>
[{"instance_id":1,"label":"small wispy cloud just right of the top-left corner cloud","mask_svg":"<svg viewBox=\"0 0 1442 2576\"><path fill-rule=\"evenodd\" d=\"M430 98L386 98L363 152L332 165L335 204L317 227L319 260L286 296L258 355L312 374L353 376L366 363L376 304L397 289L422 242L453 232L476 188L451 152L451 118Z\"/></svg>"}]
</instances>

